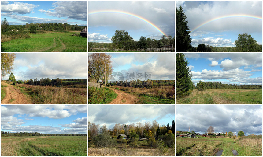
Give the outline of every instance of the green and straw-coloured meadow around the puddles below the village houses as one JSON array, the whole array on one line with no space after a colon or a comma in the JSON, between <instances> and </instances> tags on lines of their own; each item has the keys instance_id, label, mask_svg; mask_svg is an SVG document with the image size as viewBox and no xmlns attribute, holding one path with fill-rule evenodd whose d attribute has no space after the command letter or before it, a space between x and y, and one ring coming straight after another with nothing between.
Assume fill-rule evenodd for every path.
<instances>
[{"instance_id":1,"label":"green and straw-coloured meadow around the puddles below the village houses","mask_svg":"<svg viewBox=\"0 0 263 157\"><path fill-rule=\"evenodd\" d=\"M233 150L239 156L262 156L262 135L240 138L176 137L176 156L215 156L219 150L223 150L221 156L235 156Z\"/></svg>"}]
</instances>

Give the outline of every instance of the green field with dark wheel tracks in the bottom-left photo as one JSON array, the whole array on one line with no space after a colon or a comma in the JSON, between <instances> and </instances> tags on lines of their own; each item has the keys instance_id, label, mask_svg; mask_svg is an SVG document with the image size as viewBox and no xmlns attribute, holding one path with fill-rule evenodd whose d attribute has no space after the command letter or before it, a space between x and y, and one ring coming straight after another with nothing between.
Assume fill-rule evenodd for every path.
<instances>
[{"instance_id":1,"label":"green field with dark wheel tracks in the bottom-left photo","mask_svg":"<svg viewBox=\"0 0 263 157\"><path fill-rule=\"evenodd\" d=\"M1 156L87 156L87 137L1 137Z\"/></svg>"}]
</instances>

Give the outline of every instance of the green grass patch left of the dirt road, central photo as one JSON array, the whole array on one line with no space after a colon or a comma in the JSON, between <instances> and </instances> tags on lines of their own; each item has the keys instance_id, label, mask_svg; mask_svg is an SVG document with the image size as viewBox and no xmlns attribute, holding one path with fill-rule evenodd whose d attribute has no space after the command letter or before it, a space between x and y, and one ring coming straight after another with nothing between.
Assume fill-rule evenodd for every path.
<instances>
[{"instance_id":1,"label":"green grass patch left of the dirt road, central photo","mask_svg":"<svg viewBox=\"0 0 263 157\"><path fill-rule=\"evenodd\" d=\"M109 88L89 87L88 96L89 104L107 104L115 99L118 94Z\"/></svg>"}]
</instances>

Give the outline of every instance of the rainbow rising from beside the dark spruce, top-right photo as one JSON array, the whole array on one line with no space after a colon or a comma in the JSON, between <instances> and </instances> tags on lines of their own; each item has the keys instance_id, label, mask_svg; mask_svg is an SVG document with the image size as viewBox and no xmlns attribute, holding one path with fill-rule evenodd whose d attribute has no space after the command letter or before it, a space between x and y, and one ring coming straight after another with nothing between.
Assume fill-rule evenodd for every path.
<instances>
[{"instance_id":1,"label":"rainbow rising from beside the dark spruce, top-right photo","mask_svg":"<svg viewBox=\"0 0 263 157\"><path fill-rule=\"evenodd\" d=\"M219 17L210 19L208 21L205 21L204 23L201 23L200 25L195 27L194 30L192 30L192 32L194 32L198 28L200 28L200 27L202 27L202 26L204 26L204 25L206 25L208 23L211 23L213 21L220 20L220 19L226 19L226 18L234 18L234 17L245 17L245 18L253 18L253 19L262 20L262 17L260 17L260 16L252 16L252 15L245 15L245 14L224 15L224 16L219 16Z\"/></svg>"}]
</instances>

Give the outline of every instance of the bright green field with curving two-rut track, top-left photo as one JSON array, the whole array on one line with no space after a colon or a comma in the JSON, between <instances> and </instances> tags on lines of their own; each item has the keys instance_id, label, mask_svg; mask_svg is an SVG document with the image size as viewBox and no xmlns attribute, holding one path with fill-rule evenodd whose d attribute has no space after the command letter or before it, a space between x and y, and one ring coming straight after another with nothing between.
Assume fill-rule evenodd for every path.
<instances>
[{"instance_id":1,"label":"bright green field with curving two-rut track, top-left photo","mask_svg":"<svg viewBox=\"0 0 263 157\"><path fill-rule=\"evenodd\" d=\"M31 38L1 43L2 52L87 52L87 38L76 32L30 34Z\"/></svg>"}]
</instances>

